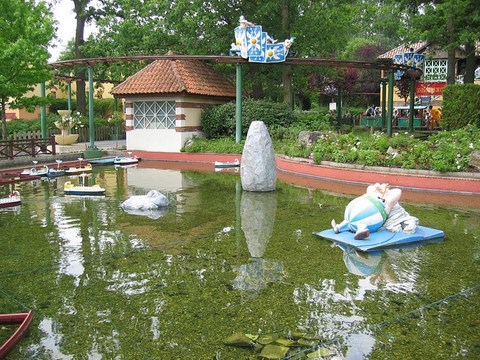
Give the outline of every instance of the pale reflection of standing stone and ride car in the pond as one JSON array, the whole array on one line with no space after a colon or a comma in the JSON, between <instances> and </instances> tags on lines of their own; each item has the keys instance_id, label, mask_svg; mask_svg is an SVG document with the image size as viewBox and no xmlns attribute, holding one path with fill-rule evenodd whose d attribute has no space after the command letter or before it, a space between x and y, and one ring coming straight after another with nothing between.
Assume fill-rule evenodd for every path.
<instances>
[{"instance_id":1,"label":"pale reflection of standing stone and ride car in the pond","mask_svg":"<svg viewBox=\"0 0 480 360\"><path fill-rule=\"evenodd\" d=\"M277 212L275 192L242 193L240 203L241 228L245 234L250 262L234 267L238 273L233 288L256 292L269 283L280 282L285 276L283 264L278 260L263 259L268 242L272 237Z\"/></svg>"}]
</instances>

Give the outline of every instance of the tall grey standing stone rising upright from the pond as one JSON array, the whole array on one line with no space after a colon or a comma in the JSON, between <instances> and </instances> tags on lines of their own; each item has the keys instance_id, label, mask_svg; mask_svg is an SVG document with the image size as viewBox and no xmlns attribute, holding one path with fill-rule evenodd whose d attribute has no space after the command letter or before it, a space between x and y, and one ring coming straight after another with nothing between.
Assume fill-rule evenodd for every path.
<instances>
[{"instance_id":1,"label":"tall grey standing stone rising upright from the pond","mask_svg":"<svg viewBox=\"0 0 480 360\"><path fill-rule=\"evenodd\" d=\"M245 191L274 191L276 188L275 151L263 121L250 124L243 147L240 178Z\"/></svg>"}]
</instances>

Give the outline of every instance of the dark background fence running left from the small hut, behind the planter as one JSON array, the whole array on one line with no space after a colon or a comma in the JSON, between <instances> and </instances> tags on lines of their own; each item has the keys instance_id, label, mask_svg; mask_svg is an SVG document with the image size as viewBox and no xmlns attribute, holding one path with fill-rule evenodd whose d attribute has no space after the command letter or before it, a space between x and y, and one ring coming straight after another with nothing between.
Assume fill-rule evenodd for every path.
<instances>
[{"instance_id":1,"label":"dark background fence running left from the small hut, behind the planter","mask_svg":"<svg viewBox=\"0 0 480 360\"><path fill-rule=\"evenodd\" d=\"M52 135L60 134L60 130L47 130L47 137ZM86 127L81 127L77 129L72 129L72 134L79 134L78 142L89 142L90 141L90 130ZM42 134L40 131L28 131L28 132L15 132L13 133L13 140L31 140L31 139L41 139ZM122 127L110 127L110 126L101 126L95 127L95 140L124 140L126 139L125 129Z\"/></svg>"}]
</instances>

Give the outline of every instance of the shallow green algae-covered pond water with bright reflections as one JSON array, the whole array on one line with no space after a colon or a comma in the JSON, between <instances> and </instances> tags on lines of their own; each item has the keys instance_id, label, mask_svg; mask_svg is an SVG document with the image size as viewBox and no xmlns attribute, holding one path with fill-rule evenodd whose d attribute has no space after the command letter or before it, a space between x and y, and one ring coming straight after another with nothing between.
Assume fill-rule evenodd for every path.
<instances>
[{"instance_id":1,"label":"shallow green algae-covered pond water with bright reflections","mask_svg":"<svg viewBox=\"0 0 480 360\"><path fill-rule=\"evenodd\" d=\"M34 320L9 359L258 359L258 341L225 344L234 334L302 338L284 359L480 357L479 209L402 203L444 241L357 253L312 235L353 196L144 165L96 168L101 198L65 197L67 177L16 185L0 313ZM120 209L152 189L166 211Z\"/></svg>"}]
</instances>

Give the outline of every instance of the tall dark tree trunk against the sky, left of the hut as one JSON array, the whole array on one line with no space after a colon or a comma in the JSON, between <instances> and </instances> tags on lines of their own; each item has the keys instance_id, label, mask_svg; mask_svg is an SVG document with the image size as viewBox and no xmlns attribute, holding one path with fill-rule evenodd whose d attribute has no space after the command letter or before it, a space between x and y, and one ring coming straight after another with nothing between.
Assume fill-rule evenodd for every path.
<instances>
[{"instance_id":1,"label":"tall dark tree trunk against the sky, left of the hut","mask_svg":"<svg viewBox=\"0 0 480 360\"><path fill-rule=\"evenodd\" d=\"M76 20L77 20L76 29L75 29L75 45L74 45L76 59L82 59L84 57L81 49L84 43L85 21L86 21L86 17L85 17L86 4L84 3L85 1L73 0L74 10L75 10ZM80 79L85 79L85 69L79 68L75 70L75 76ZM86 106L86 97L85 97L85 80L77 80L76 85L77 85L77 94L76 94L77 111L83 115L86 115L87 106Z\"/></svg>"}]
</instances>

